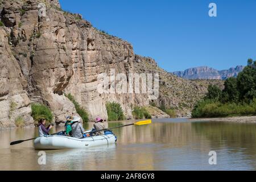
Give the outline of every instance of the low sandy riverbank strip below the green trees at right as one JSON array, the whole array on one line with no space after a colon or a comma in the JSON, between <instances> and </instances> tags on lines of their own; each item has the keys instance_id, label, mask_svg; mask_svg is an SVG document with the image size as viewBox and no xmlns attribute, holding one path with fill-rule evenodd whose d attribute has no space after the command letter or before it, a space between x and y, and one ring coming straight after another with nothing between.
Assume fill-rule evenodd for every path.
<instances>
[{"instance_id":1,"label":"low sandy riverbank strip below the green trees at right","mask_svg":"<svg viewBox=\"0 0 256 182\"><path fill-rule=\"evenodd\" d=\"M256 123L256 116L240 116L226 118L189 118L189 121L221 121L237 123Z\"/></svg>"}]
</instances>

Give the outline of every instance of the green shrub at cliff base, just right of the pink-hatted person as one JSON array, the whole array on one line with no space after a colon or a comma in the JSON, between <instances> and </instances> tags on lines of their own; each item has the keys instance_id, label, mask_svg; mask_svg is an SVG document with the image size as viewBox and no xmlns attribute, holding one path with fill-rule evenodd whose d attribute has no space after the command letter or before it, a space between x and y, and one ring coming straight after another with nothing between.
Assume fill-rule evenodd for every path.
<instances>
[{"instance_id":1,"label":"green shrub at cliff base, just right of the pink-hatted person","mask_svg":"<svg viewBox=\"0 0 256 182\"><path fill-rule=\"evenodd\" d=\"M121 105L116 102L106 103L106 110L109 121L122 121L125 119Z\"/></svg>"}]
</instances>

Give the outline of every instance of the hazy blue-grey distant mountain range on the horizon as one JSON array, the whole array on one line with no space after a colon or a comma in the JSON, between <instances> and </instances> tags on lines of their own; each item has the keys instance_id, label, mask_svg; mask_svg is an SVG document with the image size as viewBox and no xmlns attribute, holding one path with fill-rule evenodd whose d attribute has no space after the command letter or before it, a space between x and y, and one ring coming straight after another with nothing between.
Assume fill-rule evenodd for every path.
<instances>
[{"instance_id":1,"label":"hazy blue-grey distant mountain range on the horizon","mask_svg":"<svg viewBox=\"0 0 256 182\"><path fill-rule=\"evenodd\" d=\"M243 70L243 66L237 66L236 68L229 68L222 71L209 67L196 67L189 68L185 71L173 72L174 75L185 78L188 80L194 79L208 79L208 80L226 80L229 77L237 77L238 73Z\"/></svg>"}]
</instances>

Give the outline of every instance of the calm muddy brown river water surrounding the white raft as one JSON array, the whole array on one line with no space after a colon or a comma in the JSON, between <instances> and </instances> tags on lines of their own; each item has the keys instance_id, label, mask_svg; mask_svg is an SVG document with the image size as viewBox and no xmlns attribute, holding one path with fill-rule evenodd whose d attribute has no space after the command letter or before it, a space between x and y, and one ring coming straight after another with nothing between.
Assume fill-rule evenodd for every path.
<instances>
[{"instance_id":1,"label":"calm muddy brown river water surrounding the white raft","mask_svg":"<svg viewBox=\"0 0 256 182\"><path fill-rule=\"evenodd\" d=\"M131 122L109 122L107 127ZM92 123L86 123L91 129ZM61 131L62 128L53 129ZM10 142L38 136L37 129L0 131L0 170L255 170L256 125L154 119L151 125L113 130L117 143L86 150L50 150L39 165L33 142ZM209 164L209 152L217 164ZM214 156L213 156L214 157ZM211 160L212 161L212 160Z\"/></svg>"}]
</instances>

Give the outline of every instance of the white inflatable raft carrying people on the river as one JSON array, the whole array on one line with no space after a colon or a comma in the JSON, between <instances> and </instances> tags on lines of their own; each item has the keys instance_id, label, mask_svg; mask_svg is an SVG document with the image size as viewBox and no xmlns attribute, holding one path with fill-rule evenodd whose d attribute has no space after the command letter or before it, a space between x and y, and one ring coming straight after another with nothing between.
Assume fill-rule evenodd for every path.
<instances>
[{"instance_id":1,"label":"white inflatable raft carrying people on the river","mask_svg":"<svg viewBox=\"0 0 256 182\"><path fill-rule=\"evenodd\" d=\"M68 148L88 148L94 146L109 145L116 142L115 135L100 135L95 137L86 137L83 139L65 137L59 135L49 135L39 137L34 140L35 150L57 150Z\"/></svg>"}]
</instances>

